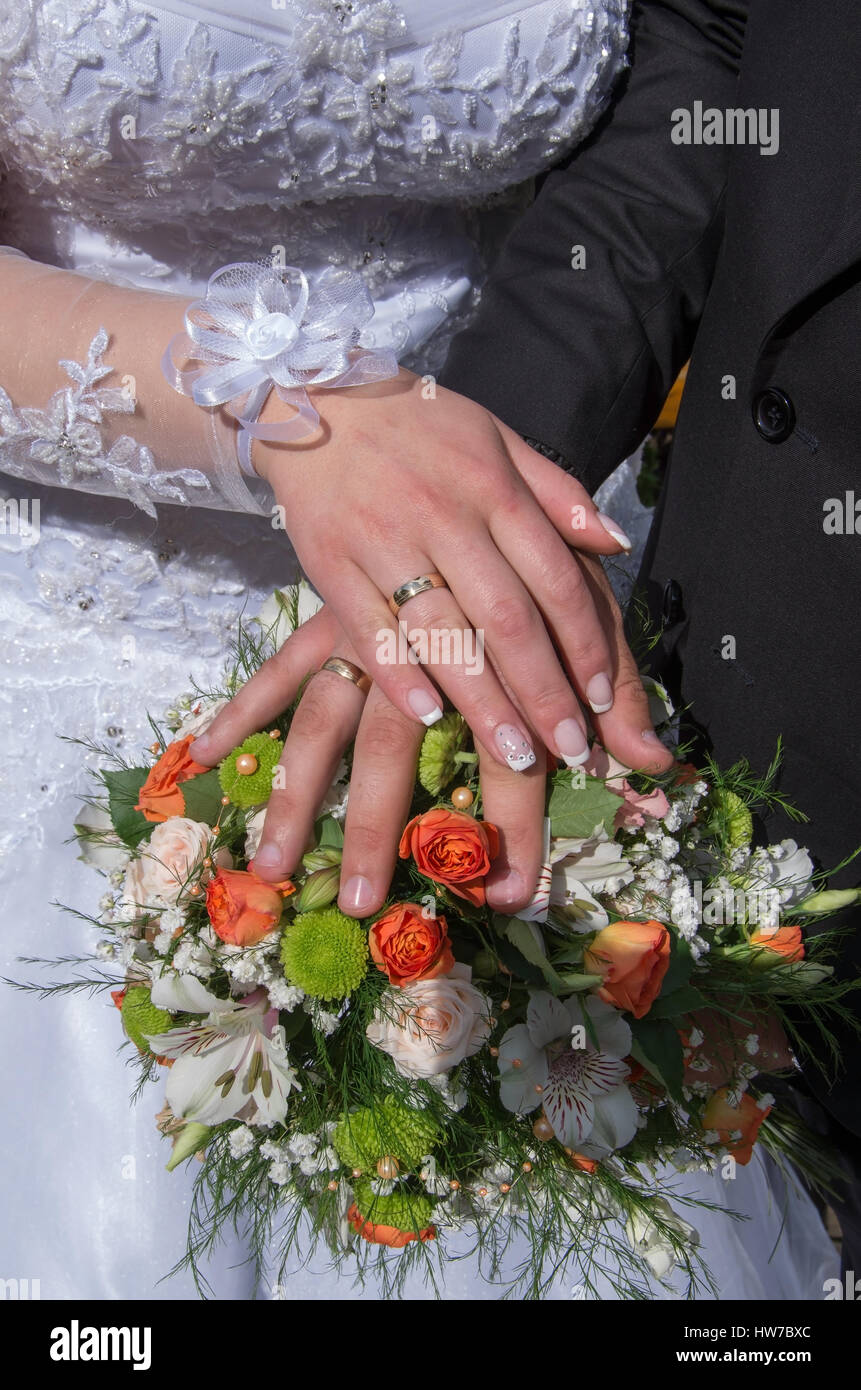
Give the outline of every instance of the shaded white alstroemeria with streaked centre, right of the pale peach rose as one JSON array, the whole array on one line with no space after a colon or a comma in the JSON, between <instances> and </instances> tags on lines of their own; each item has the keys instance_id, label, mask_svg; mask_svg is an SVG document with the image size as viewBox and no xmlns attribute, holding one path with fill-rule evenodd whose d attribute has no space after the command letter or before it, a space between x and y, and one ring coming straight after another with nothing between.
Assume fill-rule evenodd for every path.
<instances>
[{"instance_id":1,"label":"shaded white alstroemeria with streaked centre, right of the pale peach rose","mask_svg":"<svg viewBox=\"0 0 861 1390\"><path fill-rule=\"evenodd\" d=\"M637 1131L637 1106L622 1061L630 1048L630 1027L597 995L562 1001L533 991L526 1023L509 1029L499 1042L502 1104L516 1115L544 1105L561 1144L586 1158L605 1158Z\"/></svg>"}]
</instances>

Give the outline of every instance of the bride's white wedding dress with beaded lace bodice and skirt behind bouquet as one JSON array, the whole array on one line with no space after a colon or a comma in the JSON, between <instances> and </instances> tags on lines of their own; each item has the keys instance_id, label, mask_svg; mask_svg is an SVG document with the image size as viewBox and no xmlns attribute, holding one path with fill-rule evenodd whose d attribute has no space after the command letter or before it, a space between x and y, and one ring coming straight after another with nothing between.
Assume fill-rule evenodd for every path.
<instances>
[{"instance_id":1,"label":"bride's white wedding dress with beaded lace bodice and skirt behind bouquet","mask_svg":"<svg viewBox=\"0 0 861 1390\"><path fill-rule=\"evenodd\" d=\"M609 100L626 11L625 0L13 0L0 11L0 240L181 293L277 247L306 270L348 265L376 303L363 341L433 373L516 215L515 186ZM46 353L68 356L60 338ZM99 892L64 844L86 756L61 738L134 756L149 742L146 709L211 680L241 613L292 578L284 535L239 478L216 510L166 506L156 523L97 468L67 470L67 491L47 485L53 457L31 466L0 434L1 492L17 503L0 534L0 883L4 973L18 979L38 970L17 956L92 944L53 906L90 910ZM611 491L629 482L620 473ZM40 527L28 532L35 503ZM644 532L630 488L626 510L618 495L612 509ZM0 1279L21 1297L195 1297L188 1275L159 1283L184 1250L191 1173L164 1170L157 1088L128 1106L110 999L4 991L0 1030ZM836 1259L807 1198L784 1204L761 1162L732 1184L679 1182L753 1216L690 1218L725 1295L821 1297ZM218 1297L255 1295L243 1258L236 1238L211 1261ZM572 1273L552 1297L576 1290ZM451 1266L446 1297L497 1293L469 1262ZM281 1295L352 1289L317 1255L295 1264ZM406 1295L427 1290L415 1282Z\"/></svg>"}]
</instances>

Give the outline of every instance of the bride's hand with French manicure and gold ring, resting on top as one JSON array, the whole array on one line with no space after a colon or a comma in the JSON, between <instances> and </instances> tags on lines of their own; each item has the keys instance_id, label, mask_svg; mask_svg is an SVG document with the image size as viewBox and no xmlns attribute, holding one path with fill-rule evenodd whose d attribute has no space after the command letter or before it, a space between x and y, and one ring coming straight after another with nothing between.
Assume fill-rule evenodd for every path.
<instances>
[{"instance_id":1,"label":"bride's hand with French manicure and gold ring, resting on top","mask_svg":"<svg viewBox=\"0 0 861 1390\"><path fill-rule=\"evenodd\" d=\"M534 730L576 766L587 756L577 695L606 712L618 671L612 632L569 545L618 553L619 531L606 530L580 484L488 411L434 389L424 399L421 379L402 371L392 382L323 392L319 435L306 445L257 441L255 466L357 663L401 713L424 724L440 717L433 676L499 763L531 766ZM285 409L273 393L267 410ZM541 488L552 491L549 502ZM401 614L410 634L424 635L426 674L401 659L388 598L431 573L448 588L412 598ZM446 644L434 652L434 634L465 638L473 628L492 659L481 671L446 664ZM629 714L615 721L611 751L657 770L662 759L643 737L651 724Z\"/></svg>"}]
</instances>

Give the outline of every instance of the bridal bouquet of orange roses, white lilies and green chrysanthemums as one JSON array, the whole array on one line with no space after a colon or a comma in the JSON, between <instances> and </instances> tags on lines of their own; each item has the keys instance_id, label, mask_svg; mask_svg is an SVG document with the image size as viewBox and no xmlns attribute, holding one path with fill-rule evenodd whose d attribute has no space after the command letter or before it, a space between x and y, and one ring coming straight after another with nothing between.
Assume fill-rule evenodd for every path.
<instances>
[{"instance_id":1,"label":"bridal bouquet of orange roses, white lilies and green chrysanthemums","mask_svg":"<svg viewBox=\"0 0 861 1390\"><path fill-rule=\"evenodd\" d=\"M846 1013L832 934L804 930L840 895L794 841L753 847L775 769L650 780L595 748L587 771L551 770L538 891L499 916L497 830L449 713L424 735L389 901L353 920L335 906L348 766L300 872L273 885L255 852L292 712L217 769L189 755L306 603L278 594L221 689L103 767L77 826L106 892L72 984L111 988L142 1084L164 1083L167 1166L199 1161L186 1259L232 1225L281 1268L323 1241L392 1290L416 1262L435 1280L466 1240L502 1282L516 1243L531 1297L569 1259L586 1290L611 1270L634 1297L680 1265L690 1291L708 1276L673 1172L732 1176L761 1143L822 1177L761 1073L776 1023L798 1049L801 1022L828 1038Z\"/></svg>"}]
</instances>

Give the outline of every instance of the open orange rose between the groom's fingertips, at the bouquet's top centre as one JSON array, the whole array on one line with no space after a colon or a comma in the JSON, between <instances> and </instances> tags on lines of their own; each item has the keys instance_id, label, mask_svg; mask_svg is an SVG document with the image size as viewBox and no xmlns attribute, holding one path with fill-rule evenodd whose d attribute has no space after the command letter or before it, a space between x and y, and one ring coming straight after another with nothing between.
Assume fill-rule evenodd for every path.
<instances>
[{"instance_id":1,"label":"open orange rose between the groom's fingertips, at the bouquet's top centre","mask_svg":"<svg viewBox=\"0 0 861 1390\"><path fill-rule=\"evenodd\" d=\"M415 816L401 835L399 855L412 855L427 878L441 883L458 898L484 906L484 876L499 853L497 827L462 810L435 806Z\"/></svg>"}]
</instances>

